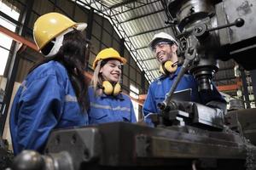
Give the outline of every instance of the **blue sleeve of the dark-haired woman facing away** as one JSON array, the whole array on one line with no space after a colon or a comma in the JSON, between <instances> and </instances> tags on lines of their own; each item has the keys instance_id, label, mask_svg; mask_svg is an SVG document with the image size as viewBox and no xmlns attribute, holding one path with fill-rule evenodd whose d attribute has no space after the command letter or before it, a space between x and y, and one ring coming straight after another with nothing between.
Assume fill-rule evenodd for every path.
<instances>
[{"instance_id":1,"label":"blue sleeve of the dark-haired woman facing away","mask_svg":"<svg viewBox=\"0 0 256 170\"><path fill-rule=\"evenodd\" d=\"M64 87L55 75L27 84L20 96L18 146L20 150L44 150L50 131L61 117Z\"/></svg>"}]
</instances>

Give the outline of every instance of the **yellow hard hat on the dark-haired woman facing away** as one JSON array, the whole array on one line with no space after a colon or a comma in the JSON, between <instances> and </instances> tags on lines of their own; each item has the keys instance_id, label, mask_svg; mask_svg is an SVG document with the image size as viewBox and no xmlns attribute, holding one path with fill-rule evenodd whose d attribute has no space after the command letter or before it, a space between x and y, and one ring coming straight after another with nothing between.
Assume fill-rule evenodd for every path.
<instances>
[{"instance_id":1,"label":"yellow hard hat on the dark-haired woman facing away","mask_svg":"<svg viewBox=\"0 0 256 170\"><path fill-rule=\"evenodd\" d=\"M36 20L33 28L33 37L38 49L41 50L48 42L68 28L74 27L79 31L83 31L86 26L86 23L76 23L63 14L48 13Z\"/></svg>"}]
</instances>

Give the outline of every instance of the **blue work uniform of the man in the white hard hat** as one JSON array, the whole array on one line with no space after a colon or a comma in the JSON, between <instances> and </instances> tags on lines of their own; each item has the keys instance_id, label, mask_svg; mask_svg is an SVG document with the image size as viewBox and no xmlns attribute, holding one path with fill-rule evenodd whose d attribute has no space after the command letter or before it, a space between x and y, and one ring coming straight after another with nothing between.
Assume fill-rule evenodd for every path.
<instances>
[{"instance_id":1,"label":"blue work uniform of the man in the white hard hat","mask_svg":"<svg viewBox=\"0 0 256 170\"><path fill-rule=\"evenodd\" d=\"M166 99L166 94L172 88L172 84L175 82L180 70L181 67L177 67L177 71L175 71L174 74L160 76L150 84L147 98L143 104L144 121L147 122L148 125L153 126L149 113L160 113L160 109L157 107L157 104ZM211 92L198 92L198 84L195 78L192 75L184 74L175 91L188 88L191 88L192 90L191 101L193 102L206 105L208 102L217 101L218 104L222 103L223 105L226 105L226 101L222 95L219 94L218 89L215 86L213 86Z\"/></svg>"}]
</instances>

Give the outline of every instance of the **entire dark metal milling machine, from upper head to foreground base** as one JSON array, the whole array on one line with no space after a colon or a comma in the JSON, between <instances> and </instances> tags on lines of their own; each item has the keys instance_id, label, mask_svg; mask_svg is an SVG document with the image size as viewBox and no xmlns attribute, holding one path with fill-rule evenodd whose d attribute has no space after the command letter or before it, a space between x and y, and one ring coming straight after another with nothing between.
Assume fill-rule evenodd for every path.
<instances>
[{"instance_id":1,"label":"entire dark metal milling machine, from upper head to foreground base","mask_svg":"<svg viewBox=\"0 0 256 170\"><path fill-rule=\"evenodd\" d=\"M235 114L172 99L185 71L195 76L199 90L211 90L218 59L256 68L248 59L255 54L256 2L163 3L185 58L177 82L159 104L160 113L151 117L154 127L113 122L55 130L44 154L25 150L12 169L256 169L256 147L243 136Z\"/></svg>"}]
</instances>

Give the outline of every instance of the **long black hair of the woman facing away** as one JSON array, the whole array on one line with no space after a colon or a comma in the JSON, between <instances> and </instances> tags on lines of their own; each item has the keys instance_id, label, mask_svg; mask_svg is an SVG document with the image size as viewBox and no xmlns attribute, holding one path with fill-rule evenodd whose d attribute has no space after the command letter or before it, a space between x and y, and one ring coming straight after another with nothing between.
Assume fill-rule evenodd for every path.
<instances>
[{"instance_id":1,"label":"long black hair of the woman facing away","mask_svg":"<svg viewBox=\"0 0 256 170\"><path fill-rule=\"evenodd\" d=\"M48 44L47 48L52 48L53 44ZM60 62L67 69L68 77L73 85L75 94L77 96L80 108L85 111L88 106L87 90L89 81L84 75L87 57L90 50L90 43L84 38L81 31L73 30L64 35L62 46L58 53L52 57L40 61L37 65L34 65L29 71L33 71L39 65L49 62L49 60L55 60Z\"/></svg>"}]
</instances>

